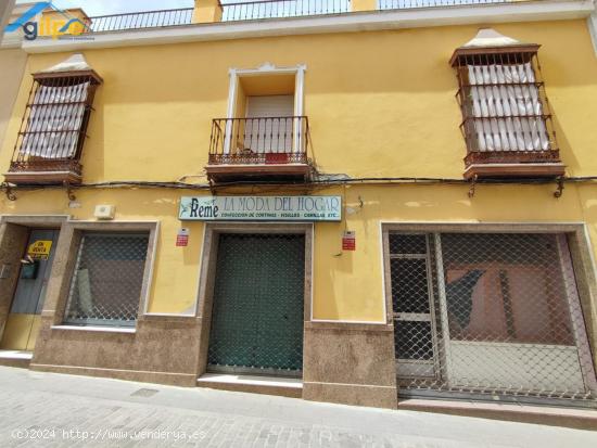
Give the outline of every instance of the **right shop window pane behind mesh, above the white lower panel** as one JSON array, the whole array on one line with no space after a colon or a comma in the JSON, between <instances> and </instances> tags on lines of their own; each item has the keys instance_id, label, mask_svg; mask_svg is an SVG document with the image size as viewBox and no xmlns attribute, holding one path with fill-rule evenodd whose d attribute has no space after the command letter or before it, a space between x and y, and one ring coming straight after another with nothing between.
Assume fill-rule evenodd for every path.
<instances>
[{"instance_id":1,"label":"right shop window pane behind mesh, above the white lower panel","mask_svg":"<svg viewBox=\"0 0 597 448\"><path fill-rule=\"evenodd\" d=\"M554 235L442 235L450 338L574 345Z\"/></svg>"}]
</instances>

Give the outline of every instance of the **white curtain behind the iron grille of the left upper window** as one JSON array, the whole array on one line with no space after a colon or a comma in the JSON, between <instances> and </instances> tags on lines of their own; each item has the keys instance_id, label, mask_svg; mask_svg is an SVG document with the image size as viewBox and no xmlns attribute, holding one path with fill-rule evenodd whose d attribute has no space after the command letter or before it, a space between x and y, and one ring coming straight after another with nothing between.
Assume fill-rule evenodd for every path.
<instances>
[{"instance_id":1,"label":"white curtain behind the iron grille of the left upper window","mask_svg":"<svg viewBox=\"0 0 597 448\"><path fill-rule=\"evenodd\" d=\"M89 82L74 86L39 86L21 145L21 154L43 158L75 155L85 114ZM72 104L78 103L78 104Z\"/></svg>"}]
</instances>

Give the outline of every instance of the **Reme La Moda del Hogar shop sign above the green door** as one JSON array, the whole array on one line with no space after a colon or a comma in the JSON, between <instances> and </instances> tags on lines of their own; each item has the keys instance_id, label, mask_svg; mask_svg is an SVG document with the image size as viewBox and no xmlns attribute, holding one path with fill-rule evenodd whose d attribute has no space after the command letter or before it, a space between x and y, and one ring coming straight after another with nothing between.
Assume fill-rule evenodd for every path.
<instances>
[{"instance_id":1,"label":"Reme La Moda del Hogar shop sign above the green door","mask_svg":"<svg viewBox=\"0 0 597 448\"><path fill-rule=\"evenodd\" d=\"M340 196L185 196L179 219L194 221L340 221Z\"/></svg>"}]
</instances>

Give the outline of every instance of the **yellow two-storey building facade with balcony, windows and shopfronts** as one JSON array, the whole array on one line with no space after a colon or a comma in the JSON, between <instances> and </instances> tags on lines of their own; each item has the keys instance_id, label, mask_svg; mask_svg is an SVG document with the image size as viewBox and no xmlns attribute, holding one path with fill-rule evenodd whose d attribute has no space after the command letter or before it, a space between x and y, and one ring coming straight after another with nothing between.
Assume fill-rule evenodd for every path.
<instances>
[{"instance_id":1,"label":"yellow two-storey building facade with balcony, windows and shopfronts","mask_svg":"<svg viewBox=\"0 0 597 448\"><path fill-rule=\"evenodd\" d=\"M366 406L593 406L593 4L238 20L196 3L209 23L23 44L0 151L1 348L33 370ZM471 80L492 66L534 75ZM81 85L93 94L64 90ZM512 128L475 115L512 98L531 104ZM36 143L42 111L86 129ZM559 159L474 146L525 132L525 157ZM467 154L491 151L505 158L465 179Z\"/></svg>"}]
</instances>

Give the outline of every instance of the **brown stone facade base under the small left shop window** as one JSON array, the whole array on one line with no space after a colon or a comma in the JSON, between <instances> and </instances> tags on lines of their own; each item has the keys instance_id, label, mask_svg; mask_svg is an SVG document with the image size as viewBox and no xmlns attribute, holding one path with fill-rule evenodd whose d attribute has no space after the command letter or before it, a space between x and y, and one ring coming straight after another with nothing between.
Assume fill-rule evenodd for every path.
<instances>
[{"instance_id":1,"label":"brown stone facade base under the small left shop window","mask_svg":"<svg viewBox=\"0 0 597 448\"><path fill-rule=\"evenodd\" d=\"M143 317L135 333L52 327L42 319L31 370L194 386L200 325L195 318Z\"/></svg>"}]
</instances>

